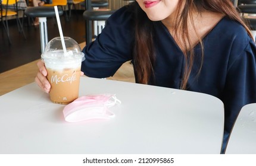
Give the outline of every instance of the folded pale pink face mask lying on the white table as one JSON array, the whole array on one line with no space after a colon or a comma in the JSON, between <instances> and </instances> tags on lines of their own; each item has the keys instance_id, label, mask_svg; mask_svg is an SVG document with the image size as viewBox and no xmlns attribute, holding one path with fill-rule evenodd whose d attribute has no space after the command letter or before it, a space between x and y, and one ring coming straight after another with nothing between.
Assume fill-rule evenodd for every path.
<instances>
[{"instance_id":1,"label":"folded pale pink face mask lying on the white table","mask_svg":"<svg viewBox=\"0 0 256 166\"><path fill-rule=\"evenodd\" d=\"M121 104L114 94L85 95L64 107L67 122L80 122L89 119L109 119L114 117L108 108Z\"/></svg>"}]
</instances>

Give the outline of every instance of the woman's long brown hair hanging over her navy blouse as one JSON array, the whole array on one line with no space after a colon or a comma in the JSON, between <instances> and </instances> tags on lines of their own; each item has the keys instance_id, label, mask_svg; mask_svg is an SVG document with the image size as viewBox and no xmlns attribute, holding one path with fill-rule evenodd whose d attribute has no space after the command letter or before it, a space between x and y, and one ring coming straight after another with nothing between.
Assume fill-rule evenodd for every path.
<instances>
[{"instance_id":1,"label":"woman's long brown hair hanging over her navy blouse","mask_svg":"<svg viewBox=\"0 0 256 166\"><path fill-rule=\"evenodd\" d=\"M154 43L153 43L153 24L149 20L145 12L139 7L137 2L133 2L132 8L135 12L135 47L134 53L134 68L136 81L141 84L148 84L149 79L154 78ZM236 8L233 6L230 0L180 0L177 5L177 20L174 34L179 32L182 37L180 42L185 43L185 50L183 52L186 59L185 72L183 74L182 83L180 88L185 90L188 83L189 75L191 74L194 53L191 50L191 42L188 36L188 16L191 16L192 10L196 9L198 12L208 11L217 12L224 16L238 21L245 27L248 34L252 37L248 25L242 20ZM199 43L202 48L202 57L204 59L204 46L202 39L198 37ZM187 44L186 44L187 43ZM189 51L189 53L187 53ZM201 62L202 65L202 62ZM198 71L199 72L199 71Z\"/></svg>"}]
</instances>

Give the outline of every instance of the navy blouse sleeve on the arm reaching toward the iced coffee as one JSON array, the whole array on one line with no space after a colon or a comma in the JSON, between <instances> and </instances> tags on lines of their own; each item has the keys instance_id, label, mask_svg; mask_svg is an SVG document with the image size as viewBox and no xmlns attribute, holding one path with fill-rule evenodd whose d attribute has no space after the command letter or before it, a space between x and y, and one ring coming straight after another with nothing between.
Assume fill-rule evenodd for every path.
<instances>
[{"instance_id":1,"label":"navy blouse sleeve on the arm reaching toward the iced coffee","mask_svg":"<svg viewBox=\"0 0 256 166\"><path fill-rule=\"evenodd\" d=\"M133 21L127 7L108 18L102 33L83 49L82 71L95 78L113 76L120 66L132 59Z\"/></svg>"}]
</instances>

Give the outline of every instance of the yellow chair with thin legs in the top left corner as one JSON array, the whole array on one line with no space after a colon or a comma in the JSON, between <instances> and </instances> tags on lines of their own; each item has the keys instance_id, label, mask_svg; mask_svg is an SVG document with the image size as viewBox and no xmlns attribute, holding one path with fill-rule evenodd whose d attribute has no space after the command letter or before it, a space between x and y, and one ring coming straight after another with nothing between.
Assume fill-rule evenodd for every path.
<instances>
[{"instance_id":1,"label":"yellow chair with thin legs in the top left corner","mask_svg":"<svg viewBox=\"0 0 256 166\"><path fill-rule=\"evenodd\" d=\"M26 39L26 36L23 31L23 26L21 25L20 18L18 18L18 7L17 7L17 1L18 0L2 0L1 1L1 22L4 25L5 31L7 32L8 41L9 44L11 44L10 40L10 32L9 32L9 26L8 26L8 18L14 16L17 20L18 24L18 31L23 33L24 39Z\"/></svg>"}]
</instances>

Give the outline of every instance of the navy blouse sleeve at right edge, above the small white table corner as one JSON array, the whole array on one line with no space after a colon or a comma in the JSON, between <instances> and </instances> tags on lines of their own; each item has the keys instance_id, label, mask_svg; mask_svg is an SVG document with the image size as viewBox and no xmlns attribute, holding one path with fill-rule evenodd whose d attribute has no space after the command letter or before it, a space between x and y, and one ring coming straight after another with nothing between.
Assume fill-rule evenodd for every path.
<instances>
[{"instance_id":1,"label":"navy blouse sleeve at right edge, above the small white table corner","mask_svg":"<svg viewBox=\"0 0 256 166\"><path fill-rule=\"evenodd\" d=\"M247 38L248 39L248 38ZM243 43L240 41L238 43ZM238 44L237 43L237 44ZM238 48L234 44L233 47ZM230 132L243 106L256 103L256 48L251 39L242 52L230 57L227 68L226 85L223 92L225 110L225 131ZM244 47L243 47L244 48Z\"/></svg>"}]
</instances>

